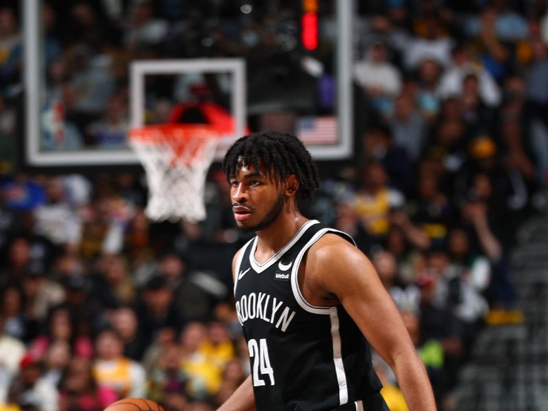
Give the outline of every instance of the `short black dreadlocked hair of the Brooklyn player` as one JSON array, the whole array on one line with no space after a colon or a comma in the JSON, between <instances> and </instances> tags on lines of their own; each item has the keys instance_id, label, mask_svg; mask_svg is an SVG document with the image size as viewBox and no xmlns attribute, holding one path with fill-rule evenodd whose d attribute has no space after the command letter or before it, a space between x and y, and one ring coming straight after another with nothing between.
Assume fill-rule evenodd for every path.
<instances>
[{"instance_id":1,"label":"short black dreadlocked hair of the Brooklyn player","mask_svg":"<svg viewBox=\"0 0 548 411\"><path fill-rule=\"evenodd\" d=\"M299 179L299 195L310 199L318 190L320 179L316 164L299 138L286 132L258 132L238 138L230 147L223 160L223 171L227 179L236 175L242 164L259 169L259 162L267 173L284 181L288 175Z\"/></svg>"}]
</instances>

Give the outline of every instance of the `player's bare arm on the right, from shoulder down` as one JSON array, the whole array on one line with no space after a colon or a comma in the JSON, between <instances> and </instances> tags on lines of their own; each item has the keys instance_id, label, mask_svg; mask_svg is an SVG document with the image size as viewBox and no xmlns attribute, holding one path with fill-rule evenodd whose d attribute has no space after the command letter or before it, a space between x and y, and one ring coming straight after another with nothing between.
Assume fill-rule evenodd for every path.
<instances>
[{"instance_id":1,"label":"player's bare arm on the right, from shoulder down","mask_svg":"<svg viewBox=\"0 0 548 411\"><path fill-rule=\"evenodd\" d=\"M327 234L311 247L305 275L311 276L316 290L336 295L343 304L373 349L393 369L409 409L436 410L423 362L369 259L343 238Z\"/></svg>"}]
</instances>

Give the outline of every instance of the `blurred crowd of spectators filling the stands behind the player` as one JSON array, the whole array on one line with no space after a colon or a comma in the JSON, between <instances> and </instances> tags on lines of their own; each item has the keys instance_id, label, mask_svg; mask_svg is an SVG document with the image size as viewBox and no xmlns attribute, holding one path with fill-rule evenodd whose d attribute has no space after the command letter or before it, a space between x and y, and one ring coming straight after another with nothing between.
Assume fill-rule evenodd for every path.
<instances>
[{"instance_id":1,"label":"blurred crowd of spectators filling the stands behind the player","mask_svg":"<svg viewBox=\"0 0 548 411\"><path fill-rule=\"evenodd\" d=\"M243 56L249 101L269 83L312 84L307 114L328 108L332 15L321 14L327 46L305 52L292 3L44 1L46 105L62 102L64 149L125 144L138 58ZM356 151L319 164L321 191L302 207L371 258L451 410L479 330L514 308L516 228L546 205L548 5L357 3ZM249 237L225 176L218 164L208 176L206 221L155 223L142 173L19 170L6 155L21 138L18 12L0 7L0 151L11 162L0 170L0 410L100 411L145 396L212 410L249 374L230 295L230 261ZM311 56L327 77L303 69ZM165 104L147 115L166 118ZM375 367L390 409L406 410L386 364Z\"/></svg>"}]
</instances>

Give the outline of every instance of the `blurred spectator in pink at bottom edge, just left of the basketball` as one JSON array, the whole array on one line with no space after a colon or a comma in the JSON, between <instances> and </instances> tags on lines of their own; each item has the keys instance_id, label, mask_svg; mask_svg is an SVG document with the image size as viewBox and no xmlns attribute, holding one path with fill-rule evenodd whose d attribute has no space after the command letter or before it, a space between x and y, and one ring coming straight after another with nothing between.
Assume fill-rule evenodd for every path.
<instances>
[{"instance_id":1,"label":"blurred spectator in pink at bottom edge, just left of the basketball","mask_svg":"<svg viewBox=\"0 0 548 411\"><path fill-rule=\"evenodd\" d=\"M119 399L114 388L99 386L89 358L75 356L59 385L60 411L103 410Z\"/></svg>"}]
</instances>

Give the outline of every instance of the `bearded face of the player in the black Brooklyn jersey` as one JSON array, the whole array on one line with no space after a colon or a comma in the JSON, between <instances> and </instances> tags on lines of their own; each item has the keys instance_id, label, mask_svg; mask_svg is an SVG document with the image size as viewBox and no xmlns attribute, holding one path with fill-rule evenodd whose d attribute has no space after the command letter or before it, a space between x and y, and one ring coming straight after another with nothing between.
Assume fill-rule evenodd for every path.
<instances>
[{"instance_id":1,"label":"bearded face of the player in the black Brooklyn jersey","mask_svg":"<svg viewBox=\"0 0 548 411\"><path fill-rule=\"evenodd\" d=\"M230 179L230 197L236 225L260 231L271 225L284 208L282 184L266 171L242 165Z\"/></svg>"}]
</instances>

